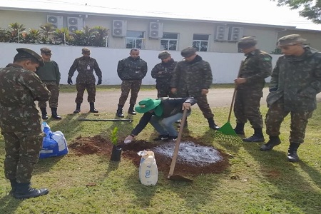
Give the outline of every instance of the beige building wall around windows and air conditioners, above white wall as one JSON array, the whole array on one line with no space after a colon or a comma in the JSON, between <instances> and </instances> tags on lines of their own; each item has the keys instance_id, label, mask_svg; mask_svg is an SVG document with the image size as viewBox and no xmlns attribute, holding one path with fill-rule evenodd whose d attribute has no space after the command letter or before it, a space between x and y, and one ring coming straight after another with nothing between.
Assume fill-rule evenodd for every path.
<instances>
[{"instance_id":1,"label":"beige building wall around windows and air conditioners, above white wall","mask_svg":"<svg viewBox=\"0 0 321 214\"><path fill-rule=\"evenodd\" d=\"M83 18L84 26L94 27L102 26L109 29L108 46L112 49L125 49L125 38L112 36L113 20L126 20L127 30L129 31L144 31L146 35L145 49L161 50L160 39L149 39L149 23L162 22L163 32L178 34L178 51L185 49L187 46L192 46L193 34L209 34L208 52L220 53L237 53L238 47L235 41L217 41L215 40L216 29L218 25L209 21L174 21L154 18L133 18L121 16L102 16L102 15L85 15L85 14L59 14L52 12L32 12L32 11L1 11L0 13L0 28L6 29L9 24L18 22L24 24L26 30L39 29L41 24L46 24L47 15L63 16L63 26L67 26L67 17L81 17ZM315 49L321 50L321 32L318 31L297 31L276 29L266 26L250 26L242 25L240 23L226 24L230 28L233 26L243 27L244 36L255 36L258 39L258 48L270 53L275 50L277 38L287 34L301 34L308 41L307 44Z\"/></svg>"}]
</instances>

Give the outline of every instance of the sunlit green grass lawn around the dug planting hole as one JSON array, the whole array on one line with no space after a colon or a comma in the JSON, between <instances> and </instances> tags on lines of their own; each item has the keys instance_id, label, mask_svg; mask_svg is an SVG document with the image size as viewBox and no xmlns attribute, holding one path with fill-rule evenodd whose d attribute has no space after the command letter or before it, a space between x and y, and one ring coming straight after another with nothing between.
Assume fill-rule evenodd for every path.
<instances>
[{"instance_id":1,"label":"sunlit green grass lawn around the dug planting hole","mask_svg":"<svg viewBox=\"0 0 321 214\"><path fill-rule=\"evenodd\" d=\"M262 106L265 116L266 106ZM215 121L226 122L228 108L213 108ZM113 118L113 113L101 114ZM81 116L81 115L80 115ZM138 123L140 115L128 122L83 122L78 115L63 116L61 121L48 121L53 131L62 131L70 143L78 136L101 135L110 138L118 127L123 140ZM90 115L88 116L90 117ZM233 154L230 167L223 173L198 175L194 183L175 182L158 175L155 186L141 185L138 168L122 159L109 161L110 156L75 156L72 151L61 158L41 159L32 182L35 187L50 189L49 195L16 200L9 195L9 181L4 178L4 139L0 139L0 213L320 213L321 106L309 121L305 143L298 154L302 161L290 163L290 118L282 123L282 143L273 151L259 151L261 143L223 143L213 139L197 106L188 118L190 135L226 153ZM235 126L234 118L231 119ZM253 133L247 123L245 132ZM138 140L152 141L156 136L150 125ZM267 139L267 136L265 136ZM157 161L157 157L156 157ZM169 170L169 169L168 169ZM236 178L236 179L235 179ZM86 187L87 183L97 183Z\"/></svg>"}]
</instances>

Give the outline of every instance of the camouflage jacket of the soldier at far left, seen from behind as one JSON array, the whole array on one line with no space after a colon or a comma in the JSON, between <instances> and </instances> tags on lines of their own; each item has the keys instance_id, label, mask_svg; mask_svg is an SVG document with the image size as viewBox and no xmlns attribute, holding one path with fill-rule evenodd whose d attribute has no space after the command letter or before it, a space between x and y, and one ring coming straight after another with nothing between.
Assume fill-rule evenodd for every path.
<instances>
[{"instance_id":1,"label":"camouflage jacket of the soldier at far left, seen from behind","mask_svg":"<svg viewBox=\"0 0 321 214\"><path fill-rule=\"evenodd\" d=\"M39 76L16 64L0 68L1 131L40 131L41 116L34 101L48 101L51 93Z\"/></svg>"}]
</instances>

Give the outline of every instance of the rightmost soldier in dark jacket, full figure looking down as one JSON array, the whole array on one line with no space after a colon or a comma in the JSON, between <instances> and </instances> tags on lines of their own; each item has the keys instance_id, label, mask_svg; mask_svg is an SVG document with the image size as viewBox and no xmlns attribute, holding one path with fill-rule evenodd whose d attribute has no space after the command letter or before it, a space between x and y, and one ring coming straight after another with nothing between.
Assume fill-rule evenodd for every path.
<instances>
[{"instance_id":1,"label":"rightmost soldier in dark jacket, full figure looking down","mask_svg":"<svg viewBox=\"0 0 321 214\"><path fill-rule=\"evenodd\" d=\"M316 95L321 91L321 53L302 46L298 34L283 36L278 40L282 56L272 72L270 93L267 96L269 109L265 118L266 133L270 141L261 146L261 151L270 151L281 143L280 126L290 113L290 146L287 160L300 161L297 148L305 138L307 121L317 108Z\"/></svg>"}]
</instances>

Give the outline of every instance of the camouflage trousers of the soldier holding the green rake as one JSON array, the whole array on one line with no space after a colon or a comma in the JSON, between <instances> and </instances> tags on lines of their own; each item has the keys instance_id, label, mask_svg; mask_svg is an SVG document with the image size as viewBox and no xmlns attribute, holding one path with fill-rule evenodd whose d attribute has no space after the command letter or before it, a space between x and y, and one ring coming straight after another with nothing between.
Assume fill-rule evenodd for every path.
<instances>
[{"instance_id":1,"label":"camouflage trousers of the soldier holding the green rake","mask_svg":"<svg viewBox=\"0 0 321 214\"><path fill-rule=\"evenodd\" d=\"M263 91L237 91L234 103L236 123L247 123L250 121L253 128L263 128L263 118L260 113L260 100L262 96Z\"/></svg>"}]
</instances>

